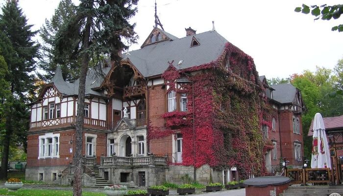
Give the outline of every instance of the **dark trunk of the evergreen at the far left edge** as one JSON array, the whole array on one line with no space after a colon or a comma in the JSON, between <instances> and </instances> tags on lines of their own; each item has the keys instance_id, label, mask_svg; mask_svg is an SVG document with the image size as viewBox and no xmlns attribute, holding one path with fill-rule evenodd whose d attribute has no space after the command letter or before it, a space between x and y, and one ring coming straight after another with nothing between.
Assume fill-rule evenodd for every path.
<instances>
[{"instance_id":1,"label":"dark trunk of the evergreen at the far left edge","mask_svg":"<svg viewBox=\"0 0 343 196\"><path fill-rule=\"evenodd\" d=\"M6 117L5 130L6 132L3 137L3 142L2 142L3 147L2 147L1 171L0 171L0 179L3 179L3 180L7 180L9 145L10 145L10 140L13 133L11 114L8 114L8 116Z\"/></svg>"}]
</instances>

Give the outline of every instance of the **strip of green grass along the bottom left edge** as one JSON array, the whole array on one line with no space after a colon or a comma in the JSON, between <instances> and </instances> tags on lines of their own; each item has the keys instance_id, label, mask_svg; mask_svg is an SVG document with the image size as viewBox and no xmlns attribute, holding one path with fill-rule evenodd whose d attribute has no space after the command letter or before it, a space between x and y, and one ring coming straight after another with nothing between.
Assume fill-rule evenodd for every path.
<instances>
[{"instance_id":1,"label":"strip of green grass along the bottom left edge","mask_svg":"<svg viewBox=\"0 0 343 196\"><path fill-rule=\"evenodd\" d=\"M7 191L7 189L0 189L0 195L4 196L73 196L73 191L63 190L27 190L19 189L18 191ZM106 196L103 193L84 192L82 196Z\"/></svg>"}]
</instances>

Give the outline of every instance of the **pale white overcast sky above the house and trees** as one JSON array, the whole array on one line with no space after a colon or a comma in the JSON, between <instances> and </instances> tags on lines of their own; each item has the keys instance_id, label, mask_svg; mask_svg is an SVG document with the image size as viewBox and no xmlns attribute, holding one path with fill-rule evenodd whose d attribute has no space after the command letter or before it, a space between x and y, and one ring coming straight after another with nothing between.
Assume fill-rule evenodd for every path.
<instances>
[{"instance_id":1,"label":"pale white overcast sky above the house and trees","mask_svg":"<svg viewBox=\"0 0 343 196\"><path fill-rule=\"evenodd\" d=\"M0 0L3 4L5 0ZM77 1L77 0L74 0ZM19 0L28 23L39 29L54 14L59 0ZM131 20L140 36L139 49L154 25L154 0L140 0L138 13ZM289 77L316 66L333 69L343 58L343 32L331 27L343 24L338 20L314 22L314 17L294 12L294 8L324 4L309 0L157 0L157 14L165 29L176 37L185 37L185 28L196 33L215 27L226 40L249 54L260 75ZM342 3L330 0L332 4Z\"/></svg>"}]
</instances>

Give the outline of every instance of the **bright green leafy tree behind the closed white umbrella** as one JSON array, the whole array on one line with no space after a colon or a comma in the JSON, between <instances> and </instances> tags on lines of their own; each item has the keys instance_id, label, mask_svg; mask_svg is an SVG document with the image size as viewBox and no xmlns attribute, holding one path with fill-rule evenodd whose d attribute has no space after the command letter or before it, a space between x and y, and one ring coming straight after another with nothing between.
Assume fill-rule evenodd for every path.
<instances>
[{"instance_id":1,"label":"bright green leafy tree behind the closed white umbrella","mask_svg":"<svg viewBox=\"0 0 343 196\"><path fill-rule=\"evenodd\" d=\"M311 157L312 138L308 137L308 131L312 119L317 112L323 117L340 116L343 114L343 98L335 96L329 98L328 94L336 91L338 73L330 69L317 67L316 72L305 70L303 74L294 74L291 83L300 89L304 99L306 111L302 116L304 154Z\"/></svg>"}]
</instances>

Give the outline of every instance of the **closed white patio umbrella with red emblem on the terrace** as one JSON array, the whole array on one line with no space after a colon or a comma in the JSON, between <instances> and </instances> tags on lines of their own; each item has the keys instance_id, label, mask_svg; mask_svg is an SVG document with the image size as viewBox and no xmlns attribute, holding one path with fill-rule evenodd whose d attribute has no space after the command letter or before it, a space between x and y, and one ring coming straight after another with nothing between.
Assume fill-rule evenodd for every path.
<instances>
[{"instance_id":1,"label":"closed white patio umbrella with red emblem on the terrace","mask_svg":"<svg viewBox=\"0 0 343 196\"><path fill-rule=\"evenodd\" d=\"M320 113L313 120L313 144L311 168L330 168L330 151L327 143L325 126Z\"/></svg>"}]
</instances>

